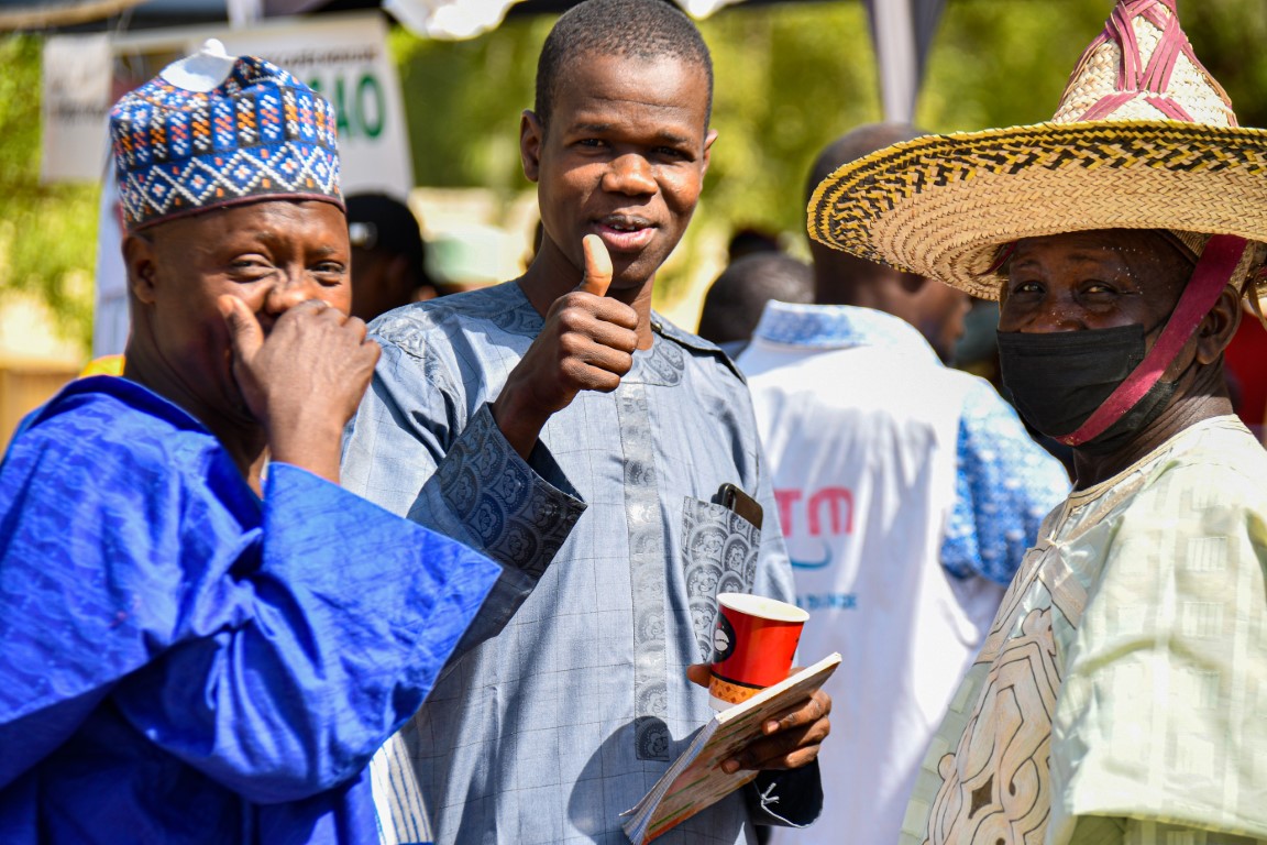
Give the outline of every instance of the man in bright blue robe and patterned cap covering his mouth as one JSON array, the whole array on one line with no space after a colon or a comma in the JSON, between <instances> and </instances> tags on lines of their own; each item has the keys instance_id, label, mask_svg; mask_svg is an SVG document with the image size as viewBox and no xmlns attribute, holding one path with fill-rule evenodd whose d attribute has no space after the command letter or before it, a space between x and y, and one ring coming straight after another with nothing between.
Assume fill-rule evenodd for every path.
<instances>
[{"instance_id":1,"label":"man in bright blue robe and patterned cap covering his mouth","mask_svg":"<svg viewBox=\"0 0 1267 845\"><path fill-rule=\"evenodd\" d=\"M337 484L379 350L333 115L204 51L110 123L124 378L0 465L0 841L376 841L365 765L500 569Z\"/></svg>"}]
</instances>

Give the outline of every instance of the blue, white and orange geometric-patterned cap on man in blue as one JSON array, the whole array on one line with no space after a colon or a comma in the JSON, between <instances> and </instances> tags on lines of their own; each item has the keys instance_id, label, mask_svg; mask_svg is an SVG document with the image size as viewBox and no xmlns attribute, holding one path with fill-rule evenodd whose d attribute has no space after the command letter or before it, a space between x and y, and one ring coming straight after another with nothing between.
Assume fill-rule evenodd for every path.
<instances>
[{"instance_id":1,"label":"blue, white and orange geometric-patterned cap on man in blue","mask_svg":"<svg viewBox=\"0 0 1267 845\"><path fill-rule=\"evenodd\" d=\"M119 99L110 138L129 232L264 199L343 208L329 103L214 39Z\"/></svg>"}]
</instances>

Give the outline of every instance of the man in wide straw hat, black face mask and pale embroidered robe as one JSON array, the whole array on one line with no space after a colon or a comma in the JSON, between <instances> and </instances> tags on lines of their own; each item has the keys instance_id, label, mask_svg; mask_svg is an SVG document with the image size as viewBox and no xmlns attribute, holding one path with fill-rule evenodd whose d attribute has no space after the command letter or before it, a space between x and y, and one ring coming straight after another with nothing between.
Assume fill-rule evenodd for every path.
<instances>
[{"instance_id":1,"label":"man in wide straw hat, black face mask and pale embroidered robe","mask_svg":"<svg viewBox=\"0 0 1267 845\"><path fill-rule=\"evenodd\" d=\"M1074 450L902 841L1267 840L1267 454L1221 371L1267 133L1173 0L1117 4L1053 122L888 147L808 213L824 243L1000 299L1003 380Z\"/></svg>"}]
</instances>

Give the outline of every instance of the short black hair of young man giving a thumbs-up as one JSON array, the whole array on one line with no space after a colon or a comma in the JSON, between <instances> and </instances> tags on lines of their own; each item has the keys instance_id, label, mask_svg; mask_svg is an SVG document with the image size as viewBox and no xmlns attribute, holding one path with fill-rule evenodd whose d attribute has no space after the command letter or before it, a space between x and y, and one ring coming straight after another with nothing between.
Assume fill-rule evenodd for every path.
<instances>
[{"instance_id":1,"label":"short black hair of young man giving a thumbs-up","mask_svg":"<svg viewBox=\"0 0 1267 845\"><path fill-rule=\"evenodd\" d=\"M532 109L542 127L550 123L564 68L590 53L670 56L702 67L708 79L706 123L712 118L712 56L691 18L668 0L585 0L559 18L541 47Z\"/></svg>"}]
</instances>

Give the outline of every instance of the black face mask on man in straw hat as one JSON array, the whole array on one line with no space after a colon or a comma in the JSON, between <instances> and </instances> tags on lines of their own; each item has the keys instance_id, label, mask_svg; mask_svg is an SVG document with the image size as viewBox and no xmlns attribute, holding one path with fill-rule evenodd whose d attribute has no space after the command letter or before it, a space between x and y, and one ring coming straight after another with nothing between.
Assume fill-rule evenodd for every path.
<instances>
[{"instance_id":1,"label":"black face mask on man in straw hat","mask_svg":"<svg viewBox=\"0 0 1267 845\"><path fill-rule=\"evenodd\" d=\"M1016 409L1050 437L1078 429L1144 360L1140 324L1082 332L998 332L998 367ZM1112 452L1157 419L1176 383L1158 380L1121 419L1078 446L1091 455Z\"/></svg>"}]
</instances>

